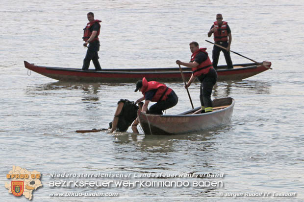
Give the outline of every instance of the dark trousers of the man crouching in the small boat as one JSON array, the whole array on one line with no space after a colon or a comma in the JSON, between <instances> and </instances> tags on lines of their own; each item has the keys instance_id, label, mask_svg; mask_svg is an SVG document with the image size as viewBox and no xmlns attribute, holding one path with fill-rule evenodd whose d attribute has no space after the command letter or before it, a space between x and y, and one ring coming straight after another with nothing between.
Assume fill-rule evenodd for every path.
<instances>
[{"instance_id":1,"label":"dark trousers of the man crouching in the small boat","mask_svg":"<svg viewBox=\"0 0 304 202\"><path fill-rule=\"evenodd\" d=\"M149 108L150 114L163 114L162 111L167 110L176 106L178 102L178 97L175 92L172 90L168 95L167 99L164 101L158 101Z\"/></svg>"}]
</instances>

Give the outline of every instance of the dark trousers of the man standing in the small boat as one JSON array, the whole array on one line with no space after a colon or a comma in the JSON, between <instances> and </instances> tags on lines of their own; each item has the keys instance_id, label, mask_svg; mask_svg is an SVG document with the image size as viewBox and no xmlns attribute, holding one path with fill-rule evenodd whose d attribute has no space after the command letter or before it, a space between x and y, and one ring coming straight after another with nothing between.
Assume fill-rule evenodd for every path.
<instances>
[{"instance_id":1,"label":"dark trousers of the man standing in the small boat","mask_svg":"<svg viewBox=\"0 0 304 202\"><path fill-rule=\"evenodd\" d=\"M207 74L199 76L198 79L201 82L201 90L200 90L201 106L205 108L212 107L211 93L212 93L212 88L217 80L216 70L212 68Z\"/></svg>"}]
</instances>

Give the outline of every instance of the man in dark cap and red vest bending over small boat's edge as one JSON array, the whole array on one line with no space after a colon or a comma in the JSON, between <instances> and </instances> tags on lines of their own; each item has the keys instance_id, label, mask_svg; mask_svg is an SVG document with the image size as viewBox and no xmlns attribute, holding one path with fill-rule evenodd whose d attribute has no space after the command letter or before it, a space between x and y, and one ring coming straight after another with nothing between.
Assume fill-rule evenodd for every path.
<instances>
[{"instance_id":1,"label":"man in dark cap and red vest bending over small boat's edge","mask_svg":"<svg viewBox=\"0 0 304 202\"><path fill-rule=\"evenodd\" d=\"M156 102L149 108L150 114L163 114L162 111L165 111L169 108L176 106L178 102L178 97L174 90L167 87L165 84L158 83L156 81L148 82L144 77L142 81L136 83L135 92L139 90L144 95L143 97L136 100L136 103L139 103L145 100L142 107L142 112L148 111L148 105L150 102ZM138 125L137 119L132 124L132 130L134 133L138 133L136 126Z\"/></svg>"}]
</instances>

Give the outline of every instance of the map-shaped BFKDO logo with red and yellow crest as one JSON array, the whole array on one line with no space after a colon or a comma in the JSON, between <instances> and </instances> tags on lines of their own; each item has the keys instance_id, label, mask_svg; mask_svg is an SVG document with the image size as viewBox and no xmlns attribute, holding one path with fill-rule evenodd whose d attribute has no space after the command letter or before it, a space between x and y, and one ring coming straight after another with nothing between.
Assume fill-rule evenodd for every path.
<instances>
[{"instance_id":1,"label":"map-shaped BFKDO logo with red and yellow crest","mask_svg":"<svg viewBox=\"0 0 304 202\"><path fill-rule=\"evenodd\" d=\"M5 188L8 189L9 194L16 197L24 196L31 200L33 191L42 186L40 181L41 174L34 170L28 171L19 166L13 166L13 169L6 174Z\"/></svg>"}]
</instances>

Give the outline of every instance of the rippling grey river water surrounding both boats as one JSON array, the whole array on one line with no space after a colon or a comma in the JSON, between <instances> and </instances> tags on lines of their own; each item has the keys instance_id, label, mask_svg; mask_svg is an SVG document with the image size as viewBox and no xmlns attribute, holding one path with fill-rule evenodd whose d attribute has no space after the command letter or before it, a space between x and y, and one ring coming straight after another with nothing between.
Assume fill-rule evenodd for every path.
<instances>
[{"instance_id":1,"label":"rippling grey river water surrounding both boats","mask_svg":"<svg viewBox=\"0 0 304 202\"><path fill-rule=\"evenodd\" d=\"M299 0L0 0L0 198L27 201L4 188L12 166L41 172L43 187L32 201L303 201L304 200L304 2ZM35 72L23 61L51 67L81 67L86 49L86 13L101 22L102 68L176 67L188 61L189 43L212 52L207 32L222 13L232 33L231 50L267 70L243 81L219 82L212 99L231 96L231 122L202 133L158 136L130 133L77 134L107 128L117 102L134 101L134 84L65 83ZM233 63L251 62L231 53ZM221 53L219 65L225 64ZM93 65L91 65L91 68ZM179 102L175 114L191 108L180 83L167 83ZM199 105L199 84L189 88ZM302 149L301 149L302 148ZM130 174L93 180L187 181L181 187L51 187L51 173ZM216 178L143 177L155 174L224 174ZM195 181L223 186L194 186ZM146 184L147 185L147 184ZM50 197L52 193L115 192L118 197ZM276 193L295 197L281 198ZM251 197L249 195L256 195ZM260 193L271 193L268 197ZM233 197L233 195L243 195ZM224 195L224 197L221 197ZM228 197L225 195L232 195Z\"/></svg>"}]
</instances>

